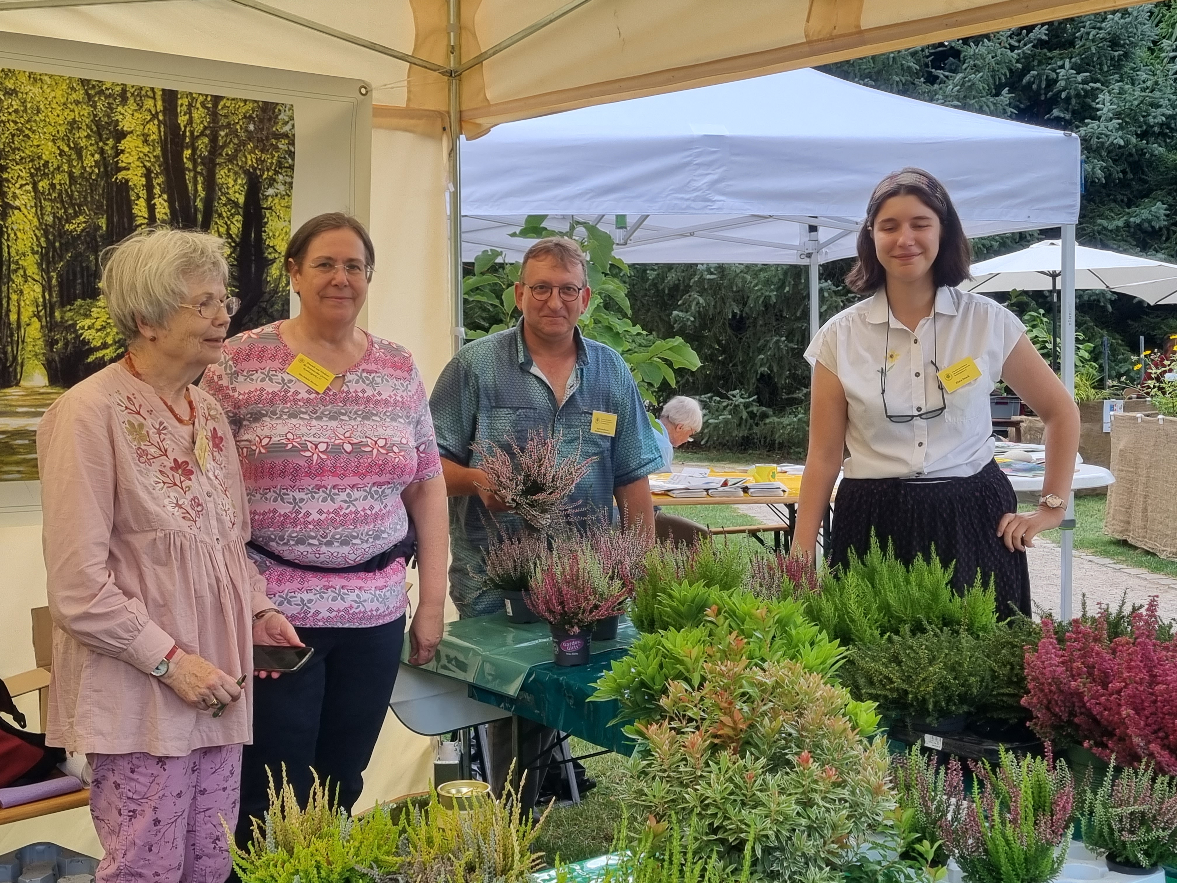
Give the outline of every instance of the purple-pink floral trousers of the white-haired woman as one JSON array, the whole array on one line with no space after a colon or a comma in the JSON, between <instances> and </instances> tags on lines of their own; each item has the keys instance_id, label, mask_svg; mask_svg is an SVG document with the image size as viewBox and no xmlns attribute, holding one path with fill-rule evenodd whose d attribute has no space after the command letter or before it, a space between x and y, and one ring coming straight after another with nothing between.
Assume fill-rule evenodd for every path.
<instances>
[{"instance_id":1,"label":"purple-pink floral trousers of the white-haired woman","mask_svg":"<svg viewBox=\"0 0 1177 883\"><path fill-rule=\"evenodd\" d=\"M106 850L95 883L224 883L240 745L186 757L92 755L91 766L89 811Z\"/></svg>"}]
</instances>

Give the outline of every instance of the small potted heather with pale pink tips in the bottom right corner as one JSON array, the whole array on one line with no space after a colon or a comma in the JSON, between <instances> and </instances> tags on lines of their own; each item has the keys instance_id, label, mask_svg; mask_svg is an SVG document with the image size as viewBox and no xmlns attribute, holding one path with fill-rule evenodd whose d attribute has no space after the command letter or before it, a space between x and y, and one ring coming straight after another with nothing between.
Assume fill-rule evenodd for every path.
<instances>
[{"instance_id":1,"label":"small potted heather with pale pink tips in the bottom right corner","mask_svg":"<svg viewBox=\"0 0 1177 883\"><path fill-rule=\"evenodd\" d=\"M1177 858L1177 781L1157 774L1150 761L1119 768L1112 757L1099 788L1085 790L1079 818L1083 845L1104 854L1108 870L1155 874Z\"/></svg>"}]
</instances>

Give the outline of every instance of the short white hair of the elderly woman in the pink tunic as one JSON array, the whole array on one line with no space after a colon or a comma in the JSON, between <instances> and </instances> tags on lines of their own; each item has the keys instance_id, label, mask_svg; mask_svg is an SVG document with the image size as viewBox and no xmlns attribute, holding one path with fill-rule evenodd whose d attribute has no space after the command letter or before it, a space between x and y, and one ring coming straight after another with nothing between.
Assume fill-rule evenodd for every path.
<instances>
[{"instance_id":1,"label":"short white hair of the elderly woman in the pink tunic","mask_svg":"<svg viewBox=\"0 0 1177 883\"><path fill-rule=\"evenodd\" d=\"M102 296L128 341L139 321L160 327L188 297L189 281L228 284L225 240L197 230L157 227L132 233L102 252Z\"/></svg>"}]
</instances>

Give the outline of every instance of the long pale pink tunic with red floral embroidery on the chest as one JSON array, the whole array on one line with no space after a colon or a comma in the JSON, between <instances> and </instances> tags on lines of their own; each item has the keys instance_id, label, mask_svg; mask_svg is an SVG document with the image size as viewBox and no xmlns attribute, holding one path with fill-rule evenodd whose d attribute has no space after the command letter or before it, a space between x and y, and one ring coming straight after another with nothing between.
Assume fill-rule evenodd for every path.
<instances>
[{"instance_id":1,"label":"long pale pink tunic with red floral embroidery on the chest","mask_svg":"<svg viewBox=\"0 0 1177 883\"><path fill-rule=\"evenodd\" d=\"M272 606L245 553L250 512L228 421L215 399L189 391L195 425L181 426L115 364L54 401L38 426L51 745L182 757L251 739L252 678L213 718L149 673L173 644L234 678L252 671L252 615Z\"/></svg>"}]
</instances>

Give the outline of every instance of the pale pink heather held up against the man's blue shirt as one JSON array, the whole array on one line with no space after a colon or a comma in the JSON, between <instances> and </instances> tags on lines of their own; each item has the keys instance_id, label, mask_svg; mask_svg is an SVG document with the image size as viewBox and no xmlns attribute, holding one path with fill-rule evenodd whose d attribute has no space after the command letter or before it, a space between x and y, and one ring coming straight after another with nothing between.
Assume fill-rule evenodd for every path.
<instances>
[{"instance_id":1,"label":"pale pink heather held up against the man's blue shirt","mask_svg":"<svg viewBox=\"0 0 1177 883\"><path fill-rule=\"evenodd\" d=\"M511 439L510 451L486 439L476 442L471 447L487 482L477 487L493 493L536 530L547 532L566 524L583 509L571 499L572 491L597 458L580 459L579 445L572 457L561 457L563 440L559 432L547 436L532 430L523 447Z\"/></svg>"}]
</instances>

